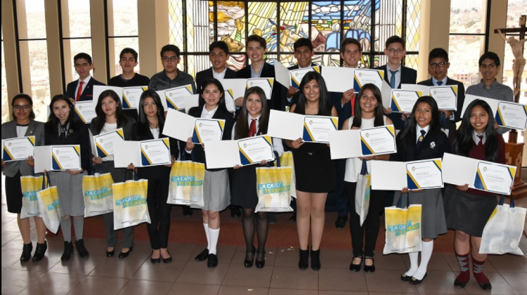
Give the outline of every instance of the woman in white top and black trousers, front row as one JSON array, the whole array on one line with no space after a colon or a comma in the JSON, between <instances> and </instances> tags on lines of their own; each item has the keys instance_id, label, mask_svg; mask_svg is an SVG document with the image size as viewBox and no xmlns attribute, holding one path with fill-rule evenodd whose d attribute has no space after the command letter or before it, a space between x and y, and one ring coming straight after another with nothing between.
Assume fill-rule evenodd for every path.
<instances>
[{"instance_id":1,"label":"woman in white top and black trousers, front row","mask_svg":"<svg viewBox=\"0 0 527 295\"><path fill-rule=\"evenodd\" d=\"M384 116L382 94L375 84L365 84L360 89L354 108L356 110L355 116L347 119L342 129L367 129L392 124L391 119ZM379 212L382 210L384 199L386 198L386 191L384 190L370 191L370 209L368 209L363 226L360 226L360 216L356 213L355 209L357 179L363 165L367 166L367 171L372 171L369 161L371 159L389 160L390 156L378 155L346 159L346 172L344 174L348 204L351 210L349 231L351 233L351 244L353 246L353 261L351 261L349 269L359 271L364 261L364 271L366 273L375 272L373 250L375 250L377 235L379 234ZM363 240L365 240L365 243Z\"/></svg>"}]
</instances>

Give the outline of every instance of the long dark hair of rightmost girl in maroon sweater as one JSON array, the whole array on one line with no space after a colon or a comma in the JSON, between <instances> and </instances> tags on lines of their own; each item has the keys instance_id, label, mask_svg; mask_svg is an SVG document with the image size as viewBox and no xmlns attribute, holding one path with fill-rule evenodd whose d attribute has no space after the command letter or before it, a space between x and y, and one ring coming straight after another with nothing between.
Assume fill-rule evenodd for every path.
<instances>
[{"instance_id":1,"label":"long dark hair of rightmost girl in maroon sweater","mask_svg":"<svg viewBox=\"0 0 527 295\"><path fill-rule=\"evenodd\" d=\"M474 128L470 124L470 116L472 109L479 105L483 107L488 114L488 123L485 128L485 158L490 162L497 162L498 158L498 140L496 136L496 130L494 129L494 116L493 110L490 108L490 105L485 100L476 99L473 100L467 107L467 110L464 111L463 119L461 122L460 129L454 133L454 138L452 142L452 152L456 155L463 157L469 157L470 150L474 146L474 139L472 135L474 134Z\"/></svg>"}]
</instances>

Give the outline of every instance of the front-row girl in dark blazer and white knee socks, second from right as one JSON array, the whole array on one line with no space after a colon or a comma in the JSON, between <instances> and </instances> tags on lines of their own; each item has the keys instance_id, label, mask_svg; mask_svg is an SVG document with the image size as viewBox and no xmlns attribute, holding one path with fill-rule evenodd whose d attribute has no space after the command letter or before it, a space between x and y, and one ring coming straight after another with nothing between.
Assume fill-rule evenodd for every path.
<instances>
[{"instance_id":1,"label":"front-row girl in dark blazer and white knee socks, second from right","mask_svg":"<svg viewBox=\"0 0 527 295\"><path fill-rule=\"evenodd\" d=\"M445 152L450 152L448 138L441 131L439 114L434 98L431 96L419 98L412 109L408 124L396 138L397 154L393 154L391 160L409 162L436 159L442 158ZM405 194L410 194L410 204L422 205L422 253L419 265L417 263L419 252L409 254L410 270L401 275L401 280L410 284L420 284L427 276L428 263L434 250L434 239L447 232L443 195L441 188L410 191L408 188L403 188L400 192L395 192L393 204L396 205L399 198L403 198L403 206L406 206Z\"/></svg>"}]
</instances>

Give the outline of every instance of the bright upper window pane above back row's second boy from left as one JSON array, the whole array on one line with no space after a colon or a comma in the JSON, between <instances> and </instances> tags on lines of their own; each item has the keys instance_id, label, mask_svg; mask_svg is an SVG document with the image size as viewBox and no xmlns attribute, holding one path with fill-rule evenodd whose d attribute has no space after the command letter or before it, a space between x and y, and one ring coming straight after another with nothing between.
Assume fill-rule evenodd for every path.
<instances>
[{"instance_id":1,"label":"bright upper window pane above back row's second boy from left","mask_svg":"<svg viewBox=\"0 0 527 295\"><path fill-rule=\"evenodd\" d=\"M137 0L113 1L113 34L110 36L136 36L137 29Z\"/></svg>"}]
</instances>

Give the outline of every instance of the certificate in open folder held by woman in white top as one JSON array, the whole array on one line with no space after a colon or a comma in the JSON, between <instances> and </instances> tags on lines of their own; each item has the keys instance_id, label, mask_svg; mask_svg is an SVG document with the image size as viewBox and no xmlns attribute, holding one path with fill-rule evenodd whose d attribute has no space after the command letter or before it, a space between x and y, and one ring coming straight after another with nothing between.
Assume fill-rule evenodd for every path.
<instances>
[{"instance_id":1,"label":"certificate in open folder held by woman in white top","mask_svg":"<svg viewBox=\"0 0 527 295\"><path fill-rule=\"evenodd\" d=\"M397 152L393 125L361 129L360 147L364 156L386 155Z\"/></svg>"}]
</instances>

